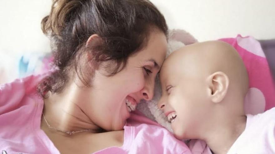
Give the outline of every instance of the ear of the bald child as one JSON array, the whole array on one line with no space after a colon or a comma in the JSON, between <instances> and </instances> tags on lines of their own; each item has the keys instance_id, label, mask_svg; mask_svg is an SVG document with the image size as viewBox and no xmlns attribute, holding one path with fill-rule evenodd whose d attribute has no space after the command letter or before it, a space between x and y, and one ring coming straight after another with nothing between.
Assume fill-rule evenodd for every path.
<instances>
[{"instance_id":1,"label":"ear of the bald child","mask_svg":"<svg viewBox=\"0 0 275 154\"><path fill-rule=\"evenodd\" d=\"M214 103L219 103L226 96L229 79L224 72L215 72L207 78L208 95Z\"/></svg>"}]
</instances>

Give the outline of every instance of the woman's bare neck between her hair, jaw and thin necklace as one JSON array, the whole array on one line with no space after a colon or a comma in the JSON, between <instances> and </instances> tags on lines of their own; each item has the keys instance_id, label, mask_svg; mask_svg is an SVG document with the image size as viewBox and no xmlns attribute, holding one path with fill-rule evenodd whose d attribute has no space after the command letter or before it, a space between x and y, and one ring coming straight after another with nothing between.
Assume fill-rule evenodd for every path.
<instances>
[{"instance_id":1,"label":"woman's bare neck between her hair, jaw and thin necklace","mask_svg":"<svg viewBox=\"0 0 275 154\"><path fill-rule=\"evenodd\" d=\"M68 85L61 93L49 94L44 99L43 114L47 123L56 129L67 132L87 130L98 133L102 132L88 115L82 110L82 89L74 82Z\"/></svg>"}]
</instances>

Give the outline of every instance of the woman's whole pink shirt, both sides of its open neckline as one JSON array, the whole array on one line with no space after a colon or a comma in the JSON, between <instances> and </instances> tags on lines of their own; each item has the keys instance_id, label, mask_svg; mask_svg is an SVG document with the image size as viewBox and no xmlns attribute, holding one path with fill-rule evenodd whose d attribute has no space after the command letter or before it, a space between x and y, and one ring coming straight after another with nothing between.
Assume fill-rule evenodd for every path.
<instances>
[{"instance_id":1,"label":"woman's whole pink shirt, both sides of its open neckline","mask_svg":"<svg viewBox=\"0 0 275 154\"><path fill-rule=\"evenodd\" d=\"M53 142L40 129L43 100L36 94L43 75L17 79L0 86L0 152L8 154L58 154ZM133 113L124 126L122 147L109 147L95 154L191 153L184 142L157 123Z\"/></svg>"}]
</instances>

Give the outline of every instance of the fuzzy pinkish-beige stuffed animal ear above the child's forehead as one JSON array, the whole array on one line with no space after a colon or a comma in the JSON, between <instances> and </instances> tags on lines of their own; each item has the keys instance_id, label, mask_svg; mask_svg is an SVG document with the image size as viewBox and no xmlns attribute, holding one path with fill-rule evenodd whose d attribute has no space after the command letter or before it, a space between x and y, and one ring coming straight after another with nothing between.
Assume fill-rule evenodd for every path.
<instances>
[{"instance_id":1,"label":"fuzzy pinkish-beige stuffed animal ear above the child's forehead","mask_svg":"<svg viewBox=\"0 0 275 154\"><path fill-rule=\"evenodd\" d=\"M190 33L181 29L169 30L169 39L182 42L185 45L198 42Z\"/></svg>"}]
</instances>

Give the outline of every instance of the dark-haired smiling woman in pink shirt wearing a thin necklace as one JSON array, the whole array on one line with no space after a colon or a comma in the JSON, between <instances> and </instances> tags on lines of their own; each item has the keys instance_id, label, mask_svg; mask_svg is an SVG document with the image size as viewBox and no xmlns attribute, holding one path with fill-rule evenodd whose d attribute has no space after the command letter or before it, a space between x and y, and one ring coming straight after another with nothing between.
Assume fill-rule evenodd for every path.
<instances>
[{"instance_id":1,"label":"dark-haired smiling woman in pink shirt wearing a thin necklace","mask_svg":"<svg viewBox=\"0 0 275 154\"><path fill-rule=\"evenodd\" d=\"M188 152L163 128L134 118L126 124L140 100L152 99L166 55L167 25L151 2L54 0L42 30L52 41L54 69L2 87L2 150Z\"/></svg>"}]
</instances>

